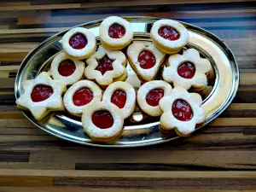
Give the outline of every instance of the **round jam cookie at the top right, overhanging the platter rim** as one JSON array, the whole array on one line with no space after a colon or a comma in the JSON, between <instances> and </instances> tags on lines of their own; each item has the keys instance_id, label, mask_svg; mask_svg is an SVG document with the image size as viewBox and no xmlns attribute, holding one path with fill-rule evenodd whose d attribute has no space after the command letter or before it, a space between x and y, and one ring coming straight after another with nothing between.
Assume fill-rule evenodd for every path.
<instances>
[{"instance_id":1,"label":"round jam cookie at the top right, overhanging the platter rim","mask_svg":"<svg viewBox=\"0 0 256 192\"><path fill-rule=\"evenodd\" d=\"M176 20L157 20L150 35L154 45L166 54L174 54L189 41L189 32Z\"/></svg>"}]
</instances>

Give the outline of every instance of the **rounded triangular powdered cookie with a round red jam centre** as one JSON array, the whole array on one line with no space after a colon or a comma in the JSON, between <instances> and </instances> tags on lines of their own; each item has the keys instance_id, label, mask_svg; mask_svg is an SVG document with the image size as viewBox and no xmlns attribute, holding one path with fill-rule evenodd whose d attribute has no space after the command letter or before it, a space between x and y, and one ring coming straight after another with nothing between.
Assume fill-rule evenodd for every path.
<instances>
[{"instance_id":1,"label":"rounded triangular powdered cookie with a round red jam centre","mask_svg":"<svg viewBox=\"0 0 256 192\"><path fill-rule=\"evenodd\" d=\"M133 42L127 49L131 67L142 79L150 81L156 76L166 54L149 42Z\"/></svg>"}]
</instances>

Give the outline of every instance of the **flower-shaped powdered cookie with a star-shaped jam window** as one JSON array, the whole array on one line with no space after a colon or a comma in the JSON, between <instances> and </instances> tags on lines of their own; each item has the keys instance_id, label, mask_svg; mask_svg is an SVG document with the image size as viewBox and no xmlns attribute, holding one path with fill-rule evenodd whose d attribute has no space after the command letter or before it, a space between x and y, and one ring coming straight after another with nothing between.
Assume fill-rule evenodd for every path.
<instances>
[{"instance_id":1,"label":"flower-shaped powdered cookie with a star-shaped jam window","mask_svg":"<svg viewBox=\"0 0 256 192\"><path fill-rule=\"evenodd\" d=\"M101 86L108 86L125 74L125 55L119 50L103 49L99 46L96 54L86 60L88 67L84 74L87 79L96 80Z\"/></svg>"}]
</instances>

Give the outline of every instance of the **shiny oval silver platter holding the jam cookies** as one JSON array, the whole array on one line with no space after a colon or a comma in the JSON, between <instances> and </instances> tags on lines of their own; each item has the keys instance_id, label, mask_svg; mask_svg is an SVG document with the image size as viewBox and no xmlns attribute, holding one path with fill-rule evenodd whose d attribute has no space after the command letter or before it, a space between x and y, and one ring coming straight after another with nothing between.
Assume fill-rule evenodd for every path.
<instances>
[{"instance_id":1,"label":"shiny oval silver platter holding the jam cookies","mask_svg":"<svg viewBox=\"0 0 256 192\"><path fill-rule=\"evenodd\" d=\"M149 32L154 21L161 18L132 16L124 17L131 22L134 32L134 40L151 41ZM91 30L97 37L99 35L99 26L102 20L91 21L79 26ZM183 23L183 22L182 22ZM183 23L189 30L188 47L197 49L201 56L206 57L212 63L214 70L214 81L212 91L205 96L202 108L207 113L207 125L213 119L216 119L220 113L230 105L230 102L236 96L239 84L239 70L236 59L230 48L224 42L200 27ZM46 71L49 68L53 57L61 51L61 38L66 33L59 32L45 40L38 47L26 56L20 64L20 69L15 79L15 97L20 97L22 88L20 83L26 79L34 79L38 73ZM127 66L128 75L134 75L131 67ZM22 111L27 119L40 129L49 132L55 137L61 137L73 143L97 147L127 148L146 146L157 143L166 143L177 139L177 135L162 135L159 129L159 119L144 118L143 113L137 110L126 120L122 136L114 143L93 143L82 128L80 119L73 117L68 113L50 113L45 119L37 121L28 111ZM197 128L200 129L203 125Z\"/></svg>"}]
</instances>

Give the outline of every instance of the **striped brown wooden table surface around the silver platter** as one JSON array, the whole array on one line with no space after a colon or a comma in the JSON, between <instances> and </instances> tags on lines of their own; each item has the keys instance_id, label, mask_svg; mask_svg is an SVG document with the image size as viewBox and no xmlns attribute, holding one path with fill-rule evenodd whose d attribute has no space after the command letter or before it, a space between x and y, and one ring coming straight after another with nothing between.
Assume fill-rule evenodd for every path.
<instances>
[{"instance_id":1,"label":"striped brown wooden table surface around the silver platter","mask_svg":"<svg viewBox=\"0 0 256 192\"><path fill-rule=\"evenodd\" d=\"M0 3L0 191L256 189L256 2L81 2ZM32 125L15 107L20 61L56 32L109 15L182 20L224 39L241 73L230 108L191 137L144 148L81 146Z\"/></svg>"}]
</instances>

